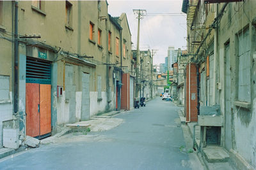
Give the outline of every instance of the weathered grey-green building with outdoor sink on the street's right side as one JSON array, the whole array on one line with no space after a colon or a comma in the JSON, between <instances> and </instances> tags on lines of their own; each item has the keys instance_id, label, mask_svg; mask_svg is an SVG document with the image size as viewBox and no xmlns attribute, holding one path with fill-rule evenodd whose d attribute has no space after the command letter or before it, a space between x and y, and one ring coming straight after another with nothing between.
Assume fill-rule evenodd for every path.
<instances>
[{"instance_id":1,"label":"weathered grey-green building with outdoor sink on the street's right side","mask_svg":"<svg viewBox=\"0 0 256 170\"><path fill-rule=\"evenodd\" d=\"M198 124L210 108L220 114L200 125L206 134L200 147L202 152L211 144L224 148L237 169L256 169L255 6L256 1L205 0L184 1L182 8L189 62L197 69L193 88L200 89Z\"/></svg>"}]
</instances>

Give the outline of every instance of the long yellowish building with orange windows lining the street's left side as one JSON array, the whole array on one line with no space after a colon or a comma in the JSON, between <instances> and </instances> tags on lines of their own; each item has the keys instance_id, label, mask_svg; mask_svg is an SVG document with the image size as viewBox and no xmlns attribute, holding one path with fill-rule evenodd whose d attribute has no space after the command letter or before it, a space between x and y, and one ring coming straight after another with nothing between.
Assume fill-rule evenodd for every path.
<instances>
[{"instance_id":1,"label":"long yellowish building with orange windows lining the street's left side","mask_svg":"<svg viewBox=\"0 0 256 170\"><path fill-rule=\"evenodd\" d=\"M0 1L0 35L0 146L131 108L131 32L107 1Z\"/></svg>"}]
</instances>

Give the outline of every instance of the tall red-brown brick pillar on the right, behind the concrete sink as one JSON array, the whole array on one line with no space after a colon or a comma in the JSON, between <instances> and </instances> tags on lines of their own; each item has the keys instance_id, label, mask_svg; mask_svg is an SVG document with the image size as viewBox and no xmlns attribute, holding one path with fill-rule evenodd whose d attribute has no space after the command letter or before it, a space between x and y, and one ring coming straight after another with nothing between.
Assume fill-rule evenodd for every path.
<instances>
[{"instance_id":1,"label":"tall red-brown brick pillar on the right, behind the concrete sink","mask_svg":"<svg viewBox=\"0 0 256 170\"><path fill-rule=\"evenodd\" d=\"M186 66L186 122L197 122L197 87L196 87L196 64L190 64L190 83L189 83L189 64ZM190 106L189 106L189 85L190 85ZM189 115L190 107L190 115Z\"/></svg>"}]
</instances>

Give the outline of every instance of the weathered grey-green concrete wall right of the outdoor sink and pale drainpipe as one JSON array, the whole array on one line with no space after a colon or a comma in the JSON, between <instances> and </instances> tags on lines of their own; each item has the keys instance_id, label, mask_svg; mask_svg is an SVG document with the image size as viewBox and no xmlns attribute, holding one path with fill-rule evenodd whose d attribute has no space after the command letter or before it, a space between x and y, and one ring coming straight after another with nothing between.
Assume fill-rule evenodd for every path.
<instances>
[{"instance_id":1,"label":"weathered grey-green concrete wall right of the outdoor sink and pale drainpipe","mask_svg":"<svg viewBox=\"0 0 256 170\"><path fill-rule=\"evenodd\" d=\"M218 90L218 102L221 106L221 112L227 119L225 122L225 132L223 146L230 150L231 158L234 164L241 169L252 166L256 168L256 115L255 115L255 27L249 22L256 17L256 12L252 6L256 6L256 1L246 1L244 3L229 3L227 13L224 13L220 23L219 31L219 57L218 57L218 75L221 84ZM244 95L250 96L249 106L239 106L238 101L238 83L239 83L239 57L238 43L241 37L238 35L241 31L248 29L250 41L250 54L247 56L252 64L250 68L250 87L251 92L244 92ZM227 54L227 45L229 52ZM229 56L227 56L229 55ZM228 59L228 57L230 59ZM230 63L229 63L230 62ZM243 62L243 61L241 61ZM227 64L230 64L227 69ZM223 74L225 73L225 74ZM227 80L230 77L230 80ZM230 89L228 88L230 81ZM228 95L230 93L230 95ZM227 101L230 101L230 105ZM222 133L222 132L221 132ZM248 168L247 167L247 168Z\"/></svg>"}]
</instances>

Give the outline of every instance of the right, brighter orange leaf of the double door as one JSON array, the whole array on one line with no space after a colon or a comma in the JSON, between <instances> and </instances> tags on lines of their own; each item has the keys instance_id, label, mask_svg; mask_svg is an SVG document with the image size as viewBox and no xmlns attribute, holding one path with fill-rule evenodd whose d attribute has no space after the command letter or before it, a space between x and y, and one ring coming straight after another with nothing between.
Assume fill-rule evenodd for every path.
<instances>
[{"instance_id":1,"label":"right, brighter orange leaf of the double door","mask_svg":"<svg viewBox=\"0 0 256 170\"><path fill-rule=\"evenodd\" d=\"M40 84L40 135L51 132L51 85Z\"/></svg>"}]
</instances>

